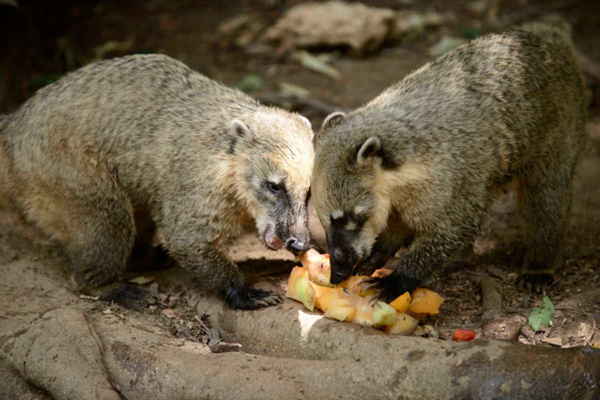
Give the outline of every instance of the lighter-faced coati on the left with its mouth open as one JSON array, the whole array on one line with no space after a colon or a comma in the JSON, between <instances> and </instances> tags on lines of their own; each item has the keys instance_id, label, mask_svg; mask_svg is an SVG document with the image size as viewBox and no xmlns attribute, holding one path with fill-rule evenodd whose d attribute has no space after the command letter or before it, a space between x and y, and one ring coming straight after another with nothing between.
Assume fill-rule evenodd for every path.
<instances>
[{"instance_id":1,"label":"lighter-faced coati on the left with its mouth open","mask_svg":"<svg viewBox=\"0 0 600 400\"><path fill-rule=\"evenodd\" d=\"M164 248L232 308L281 302L228 257L248 217L271 249L309 248L308 119L164 55L97 62L0 119L0 199L55 240L77 290L139 305L119 282L134 210ZM250 219L251 221L251 219Z\"/></svg>"}]
</instances>

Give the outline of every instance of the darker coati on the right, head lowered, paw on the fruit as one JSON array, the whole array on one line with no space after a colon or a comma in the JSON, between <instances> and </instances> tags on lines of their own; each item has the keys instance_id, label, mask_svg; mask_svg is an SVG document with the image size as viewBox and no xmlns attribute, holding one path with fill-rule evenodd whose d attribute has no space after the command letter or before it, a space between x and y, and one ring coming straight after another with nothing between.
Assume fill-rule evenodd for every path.
<instances>
[{"instance_id":1,"label":"darker coati on the right, head lowered, paw on the fruit","mask_svg":"<svg viewBox=\"0 0 600 400\"><path fill-rule=\"evenodd\" d=\"M534 28L541 36L476 38L325 119L311 191L332 284L372 273L401 247L391 275L367 279L379 298L427 284L460 261L495 194L514 180L528 245L518 283L539 291L552 279L587 101L568 35Z\"/></svg>"}]
</instances>

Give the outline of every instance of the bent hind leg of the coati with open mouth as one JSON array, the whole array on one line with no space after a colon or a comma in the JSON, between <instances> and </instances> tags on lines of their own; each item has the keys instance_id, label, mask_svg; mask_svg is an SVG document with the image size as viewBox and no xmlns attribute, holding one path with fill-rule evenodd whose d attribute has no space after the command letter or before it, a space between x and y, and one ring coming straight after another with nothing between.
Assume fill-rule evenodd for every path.
<instances>
[{"instance_id":1,"label":"bent hind leg of the coati with open mouth","mask_svg":"<svg viewBox=\"0 0 600 400\"><path fill-rule=\"evenodd\" d=\"M119 282L135 236L130 200L108 166L74 162L54 167L70 176L43 177L51 183L44 179L32 185L37 193L26 194L26 218L61 245L77 291L139 307L145 291Z\"/></svg>"}]
</instances>

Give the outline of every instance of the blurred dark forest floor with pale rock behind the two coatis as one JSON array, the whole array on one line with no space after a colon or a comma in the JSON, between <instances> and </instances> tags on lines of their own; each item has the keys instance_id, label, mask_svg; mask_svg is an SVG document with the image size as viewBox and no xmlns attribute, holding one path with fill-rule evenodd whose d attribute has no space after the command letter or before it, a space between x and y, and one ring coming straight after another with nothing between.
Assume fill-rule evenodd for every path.
<instances>
[{"instance_id":1,"label":"blurred dark forest floor with pale rock behind the two coatis","mask_svg":"<svg viewBox=\"0 0 600 400\"><path fill-rule=\"evenodd\" d=\"M0 113L89 62L164 53L318 127L462 41L547 13L572 25L597 118L597 0L0 0Z\"/></svg>"}]
</instances>

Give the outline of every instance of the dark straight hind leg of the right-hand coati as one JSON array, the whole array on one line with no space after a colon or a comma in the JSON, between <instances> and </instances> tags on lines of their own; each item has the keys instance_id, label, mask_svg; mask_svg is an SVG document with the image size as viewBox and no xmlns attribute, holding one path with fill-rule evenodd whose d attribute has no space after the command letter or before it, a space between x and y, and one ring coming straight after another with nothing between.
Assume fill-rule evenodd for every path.
<instances>
[{"instance_id":1,"label":"dark straight hind leg of the right-hand coati","mask_svg":"<svg viewBox=\"0 0 600 400\"><path fill-rule=\"evenodd\" d=\"M541 293L554 279L571 209L574 167L526 175L521 185L520 216L526 226L527 252L517 284Z\"/></svg>"}]
</instances>

